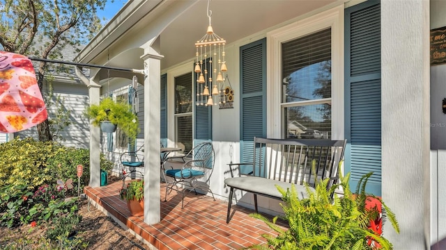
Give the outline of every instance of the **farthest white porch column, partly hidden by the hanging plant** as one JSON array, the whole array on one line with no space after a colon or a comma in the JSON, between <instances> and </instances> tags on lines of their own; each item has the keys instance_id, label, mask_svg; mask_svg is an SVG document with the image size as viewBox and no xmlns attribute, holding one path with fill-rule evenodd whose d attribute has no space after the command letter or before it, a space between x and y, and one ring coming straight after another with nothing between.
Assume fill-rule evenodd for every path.
<instances>
[{"instance_id":1,"label":"farthest white porch column, partly hidden by the hanging plant","mask_svg":"<svg viewBox=\"0 0 446 250\"><path fill-rule=\"evenodd\" d=\"M93 80L91 80L93 81ZM100 86L89 85L90 104L99 104ZM90 124L90 186L100 187L100 128Z\"/></svg>"}]
</instances>

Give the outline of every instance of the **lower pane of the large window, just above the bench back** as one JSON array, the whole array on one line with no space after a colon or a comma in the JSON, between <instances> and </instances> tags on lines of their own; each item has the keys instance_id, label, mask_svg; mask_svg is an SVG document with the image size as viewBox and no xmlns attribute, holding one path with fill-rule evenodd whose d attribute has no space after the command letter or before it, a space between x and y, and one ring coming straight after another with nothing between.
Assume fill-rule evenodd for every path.
<instances>
[{"instance_id":1,"label":"lower pane of the large window, just above the bench back","mask_svg":"<svg viewBox=\"0 0 446 250\"><path fill-rule=\"evenodd\" d=\"M284 108L286 138L330 139L332 114L329 104Z\"/></svg>"}]
</instances>

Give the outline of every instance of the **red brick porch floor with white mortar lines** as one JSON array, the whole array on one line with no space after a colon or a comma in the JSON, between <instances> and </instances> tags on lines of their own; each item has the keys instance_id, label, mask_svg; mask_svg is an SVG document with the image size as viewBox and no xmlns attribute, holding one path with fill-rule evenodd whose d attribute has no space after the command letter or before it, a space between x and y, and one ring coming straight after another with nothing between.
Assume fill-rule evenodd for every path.
<instances>
[{"instance_id":1,"label":"red brick porch floor with white mortar lines","mask_svg":"<svg viewBox=\"0 0 446 250\"><path fill-rule=\"evenodd\" d=\"M91 206L128 228L151 249L241 249L266 242L263 233L274 233L260 220L249 217L254 210L241 206L233 206L233 218L226 224L227 203L205 195L188 194L184 209L176 192L168 194L164 202L166 183L161 183L161 221L149 225L143 217L130 215L126 202L119 199L121 185L116 181L98 188L89 186L84 192Z\"/></svg>"}]
</instances>

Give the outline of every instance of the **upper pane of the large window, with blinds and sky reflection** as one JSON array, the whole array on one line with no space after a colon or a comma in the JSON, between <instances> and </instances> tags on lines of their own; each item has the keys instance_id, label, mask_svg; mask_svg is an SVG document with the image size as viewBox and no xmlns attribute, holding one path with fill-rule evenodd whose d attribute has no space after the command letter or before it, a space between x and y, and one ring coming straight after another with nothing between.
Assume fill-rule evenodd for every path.
<instances>
[{"instance_id":1,"label":"upper pane of the large window, with blinds and sky reflection","mask_svg":"<svg viewBox=\"0 0 446 250\"><path fill-rule=\"evenodd\" d=\"M331 28L282 44L282 103L331 97Z\"/></svg>"}]
</instances>

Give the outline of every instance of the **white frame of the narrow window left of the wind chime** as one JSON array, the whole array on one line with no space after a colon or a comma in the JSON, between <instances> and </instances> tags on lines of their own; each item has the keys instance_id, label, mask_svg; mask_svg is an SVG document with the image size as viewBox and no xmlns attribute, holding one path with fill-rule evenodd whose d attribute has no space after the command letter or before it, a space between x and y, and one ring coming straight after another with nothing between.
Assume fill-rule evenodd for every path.
<instances>
[{"instance_id":1,"label":"white frame of the narrow window left of the wind chime","mask_svg":"<svg viewBox=\"0 0 446 250\"><path fill-rule=\"evenodd\" d=\"M193 67L194 62L185 63L185 65L175 67L167 71L167 146L168 147L178 147L176 140L176 117L184 116L185 114L192 115L192 140L195 138L195 118L194 118L194 103L192 103L192 113L182 113L175 114L175 78L177 76L182 76L183 74L187 74L190 72L192 74L192 101L194 101L194 75L193 75Z\"/></svg>"}]
</instances>

